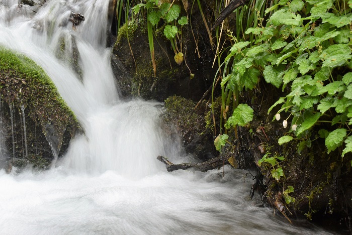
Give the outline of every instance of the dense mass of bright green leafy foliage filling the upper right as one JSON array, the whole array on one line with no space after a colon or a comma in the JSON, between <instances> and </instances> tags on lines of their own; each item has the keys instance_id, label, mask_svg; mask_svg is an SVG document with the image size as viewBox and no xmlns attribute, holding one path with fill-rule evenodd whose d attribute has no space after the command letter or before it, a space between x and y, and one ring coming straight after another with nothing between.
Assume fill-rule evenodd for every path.
<instances>
[{"instance_id":1,"label":"dense mass of bright green leafy foliage filling the upper right","mask_svg":"<svg viewBox=\"0 0 352 235\"><path fill-rule=\"evenodd\" d=\"M329 131L320 135L327 152L343 146L342 156L352 152L352 12L348 6L332 0L275 2L266 10L271 14L266 24L259 17L260 24L235 40L223 63L225 71L232 65L221 81L228 92L223 95L253 89L263 77L289 90L269 111L281 104L278 113L291 112L287 122L301 141L300 149L310 146L313 127L330 123ZM292 136L284 136L279 143L291 140ZM280 176L277 171L272 174Z\"/></svg>"}]
</instances>

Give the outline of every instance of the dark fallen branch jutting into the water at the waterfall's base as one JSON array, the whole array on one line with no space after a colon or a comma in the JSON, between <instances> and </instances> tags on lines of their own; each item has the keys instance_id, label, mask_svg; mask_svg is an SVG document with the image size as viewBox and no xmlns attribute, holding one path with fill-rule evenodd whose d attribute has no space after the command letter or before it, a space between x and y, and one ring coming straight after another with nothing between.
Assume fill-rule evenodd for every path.
<instances>
[{"instance_id":1,"label":"dark fallen branch jutting into the water at the waterfall's base","mask_svg":"<svg viewBox=\"0 0 352 235\"><path fill-rule=\"evenodd\" d=\"M205 172L205 171L213 170L215 168L219 168L229 164L228 159L230 157L231 155L220 155L219 157L212 158L202 163L181 163L181 164L173 164L163 156L158 156L156 159L159 160L160 162L165 163L166 169L169 172L180 170L180 169L186 170L189 168L193 168L194 170Z\"/></svg>"}]
</instances>

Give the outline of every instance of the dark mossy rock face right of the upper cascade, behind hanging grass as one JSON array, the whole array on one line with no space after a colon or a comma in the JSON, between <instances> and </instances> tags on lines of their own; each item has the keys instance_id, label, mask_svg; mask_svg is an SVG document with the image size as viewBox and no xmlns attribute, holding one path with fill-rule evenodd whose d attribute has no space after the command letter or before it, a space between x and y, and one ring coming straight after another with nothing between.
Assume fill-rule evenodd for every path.
<instances>
[{"instance_id":1,"label":"dark mossy rock face right of the upper cascade, behind hanging grass","mask_svg":"<svg viewBox=\"0 0 352 235\"><path fill-rule=\"evenodd\" d=\"M158 101L163 101L172 95L194 101L202 97L212 85L216 69L212 68L208 56L199 58L198 54L194 53L196 44L191 28L187 27L185 26L182 33L182 45L185 46L181 50L185 54L185 61L181 65L174 60L175 53L170 41L160 34L162 26L156 30L156 36L153 39L155 74L147 30L143 21L128 23L119 29L113 48L112 65L120 90L124 95L126 94L125 96L140 96ZM211 47L202 48L203 46L203 44L199 45L199 50L208 53ZM115 66L119 63L124 67L123 72ZM191 73L194 76L191 76Z\"/></svg>"}]
</instances>

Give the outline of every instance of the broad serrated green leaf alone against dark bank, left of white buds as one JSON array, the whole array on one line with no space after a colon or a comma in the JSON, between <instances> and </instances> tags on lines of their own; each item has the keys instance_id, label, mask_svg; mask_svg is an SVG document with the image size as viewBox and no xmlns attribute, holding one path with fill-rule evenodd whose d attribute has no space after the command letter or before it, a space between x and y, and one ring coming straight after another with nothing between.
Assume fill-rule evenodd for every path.
<instances>
[{"instance_id":1,"label":"broad serrated green leaf alone against dark bank, left of white buds","mask_svg":"<svg viewBox=\"0 0 352 235\"><path fill-rule=\"evenodd\" d=\"M253 109L247 104L238 104L233 110L232 116L227 120L225 124L226 129L230 129L232 126L244 127L247 123L253 120Z\"/></svg>"}]
</instances>

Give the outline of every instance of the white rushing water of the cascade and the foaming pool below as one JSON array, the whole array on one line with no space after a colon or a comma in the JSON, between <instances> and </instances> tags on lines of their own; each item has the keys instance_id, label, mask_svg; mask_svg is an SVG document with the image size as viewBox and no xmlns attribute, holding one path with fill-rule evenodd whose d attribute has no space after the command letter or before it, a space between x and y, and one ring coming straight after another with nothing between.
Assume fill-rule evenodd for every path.
<instances>
[{"instance_id":1,"label":"white rushing water of the cascade and the foaming pool below","mask_svg":"<svg viewBox=\"0 0 352 235\"><path fill-rule=\"evenodd\" d=\"M245 171L166 172L156 156L190 160L162 132L159 103L119 99L105 48L108 4L51 0L37 10L0 0L0 45L44 68L85 131L51 170L0 170L0 234L328 234L248 200ZM76 30L71 12L85 17ZM62 38L66 54L76 44L82 82L57 59ZM0 159L1 138L0 127Z\"/></svg>"}]
</instances>

